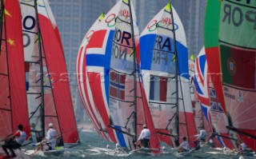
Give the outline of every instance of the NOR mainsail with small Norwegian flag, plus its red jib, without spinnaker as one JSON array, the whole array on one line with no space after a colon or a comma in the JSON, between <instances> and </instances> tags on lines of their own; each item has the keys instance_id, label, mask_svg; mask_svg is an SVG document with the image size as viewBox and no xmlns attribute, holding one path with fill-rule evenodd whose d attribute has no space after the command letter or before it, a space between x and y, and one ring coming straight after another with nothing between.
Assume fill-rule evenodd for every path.
<instances>
[{"instance_id":1,"label":"NOR mainsail with small Norwegian flag, plus its red jib, without spinnaker","mask_svg":"<svg viewBox=\"0 0 256 159\"><path fill-rule=\"evenodd\" d=\"M129 0L122 1L115 22L110 62L110 127L116 130L120 145L136 149L134 142L146 124L151 133L150 148L159 149L141 84L136 49L138 26Z\"/></svg>"}]
</instances>

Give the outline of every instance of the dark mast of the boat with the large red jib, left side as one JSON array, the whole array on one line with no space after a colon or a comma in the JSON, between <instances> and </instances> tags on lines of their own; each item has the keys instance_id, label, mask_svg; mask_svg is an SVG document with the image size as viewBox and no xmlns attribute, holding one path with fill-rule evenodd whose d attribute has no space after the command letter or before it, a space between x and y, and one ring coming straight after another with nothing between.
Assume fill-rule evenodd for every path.
<instances>
[{"instance_id":1,"label":"dark mast of the boat with the large red jib, left side","mask_svg":"<svg viewBox=\"0 0 256 159\"><path fill-rule=\"evenodd\" d=\"M37 35L38 35L38 48L39 48L39 64L40 64L40 82L41 82L41 114L42 114L42 137L45 137L45 111L44 111L44 86L43 86L43 67L42 67L42 41L41 41L41 32L39 27L39 21L38 21L38 6L37 6L37 0L34 0L34 8L35 8L35 14L37 18Z\"/></svg>"}]
</instances>

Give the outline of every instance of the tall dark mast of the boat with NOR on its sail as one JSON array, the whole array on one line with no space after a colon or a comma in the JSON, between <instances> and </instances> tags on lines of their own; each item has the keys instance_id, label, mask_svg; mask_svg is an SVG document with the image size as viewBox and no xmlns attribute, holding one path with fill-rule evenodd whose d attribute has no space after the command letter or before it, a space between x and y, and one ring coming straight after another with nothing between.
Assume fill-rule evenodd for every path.
<instances>
[{"instance_id":1,"label":"tall dark mast of the boat with NOR on its sail","mask_svg":"<svg viewBox=\"0 0 256 159\"><path fill-rule=\"evenodd\" d=\"M133 143L137 141L137 68L136 68L136 50L135 50L135 40L134 40L134 22L130 7L130 0L128 0L129 12L130 12L130 26L131 26L131 38L133 41L133 54L134 54L134 132ZM135 145L134 145L135 147Z\"/></svg>"}]
</instances>

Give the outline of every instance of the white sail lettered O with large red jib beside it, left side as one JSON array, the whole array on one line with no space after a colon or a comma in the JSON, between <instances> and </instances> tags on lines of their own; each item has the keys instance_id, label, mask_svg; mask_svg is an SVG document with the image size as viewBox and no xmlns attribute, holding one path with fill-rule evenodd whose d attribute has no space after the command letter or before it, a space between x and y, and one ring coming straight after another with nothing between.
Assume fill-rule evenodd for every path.
<instances>
[{"instance_id":1,"label":"white sail lettered O with large red jib beside it, left side","mask_svg":"<svg viewBox=\"0 0 256 159\"><path fill-rule=\"evenodd\" d=\"M59 145L76 145L78 130L65 74L66 62L49 2L20 4L31 131L37 142L42 141L48 125L53 123Z\"/></svg>"}]
</instances>

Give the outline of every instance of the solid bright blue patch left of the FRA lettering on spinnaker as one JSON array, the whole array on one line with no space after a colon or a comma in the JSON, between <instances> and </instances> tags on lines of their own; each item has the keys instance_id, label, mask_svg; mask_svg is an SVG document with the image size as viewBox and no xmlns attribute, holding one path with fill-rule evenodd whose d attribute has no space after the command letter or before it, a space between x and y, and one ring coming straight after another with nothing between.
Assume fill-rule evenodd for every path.
<instances>
[{"instance_id":1,"label":"solid bright blue patch left of the FRA lettering on spinnaker","mask_svg":"<svg viewBox=\"0 0 256 159\"><path fill-rule=\"evenodd\" d=\"M156 34L146 34L139 39L142 70L151 70Z\"/></svg>"}]
</instances>

